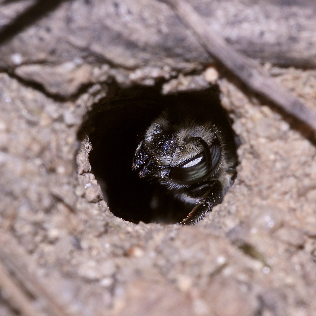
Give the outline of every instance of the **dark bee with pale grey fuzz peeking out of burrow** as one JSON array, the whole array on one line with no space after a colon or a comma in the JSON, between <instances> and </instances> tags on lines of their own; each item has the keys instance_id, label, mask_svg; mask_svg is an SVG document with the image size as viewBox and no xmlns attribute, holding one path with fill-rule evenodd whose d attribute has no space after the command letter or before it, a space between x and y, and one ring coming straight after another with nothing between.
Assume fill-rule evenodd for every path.
<instances>
[{"instance_id":1,"label":"dark bee with pale grey fuzz peeking out of burrow","mask_svg":"<svg viewBox=\"0 0 316 316\"><path fill-rule=\"evenodd\" d=\"M236 178L234 133L222 108L184 98L167 106L137 146L132 169L192 207L180 224L194 225L220 204Z\"/></svg>"}]
</instances>

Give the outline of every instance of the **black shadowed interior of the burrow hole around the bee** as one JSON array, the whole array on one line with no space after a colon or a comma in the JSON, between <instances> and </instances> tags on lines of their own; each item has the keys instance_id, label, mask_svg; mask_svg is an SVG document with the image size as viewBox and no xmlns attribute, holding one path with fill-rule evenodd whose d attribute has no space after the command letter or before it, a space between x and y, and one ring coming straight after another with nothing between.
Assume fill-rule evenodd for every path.
<instances>
[{"instance_id":1,"label":"black shadowed interior of the burrow hole around the bee","mask_svg":"<svg viewBox=\"0 0 316 316\"><path fill-rule=\"evenodd\" d=\"M210 105L220 105L217 87L201 93ZM94 131L89 134L93 148L89 161L115 216L134 223L176 223L190 212L190 207L174 200L161 185L138 178L131 168L137 144L151 121L163 108L188 96L192 93L161 96L155 88L142 88L137 93L130 89L91 116Z\"/></svg>"}]
</instances>

